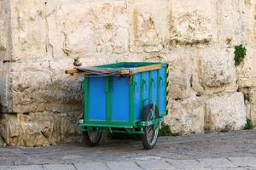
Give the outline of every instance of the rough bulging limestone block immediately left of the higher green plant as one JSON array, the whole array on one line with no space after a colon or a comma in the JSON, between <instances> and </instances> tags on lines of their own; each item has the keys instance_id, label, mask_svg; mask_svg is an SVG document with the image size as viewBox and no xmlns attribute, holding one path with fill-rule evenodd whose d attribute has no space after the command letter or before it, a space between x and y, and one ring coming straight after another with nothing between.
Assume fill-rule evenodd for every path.
<instances>
[{"instance_id":1,"label":"rough bulging limestone block immediately left of the higher green plant","mask_svg":"<svg viewBox=\"0 0 256 170\"><path fill-rule=\"evenodd\" d=\"M198 94L236 91L234 56L219 49L203 49L195 53L192 87Z\"/></svg>"}]
</instances>

